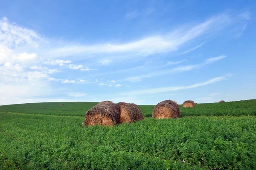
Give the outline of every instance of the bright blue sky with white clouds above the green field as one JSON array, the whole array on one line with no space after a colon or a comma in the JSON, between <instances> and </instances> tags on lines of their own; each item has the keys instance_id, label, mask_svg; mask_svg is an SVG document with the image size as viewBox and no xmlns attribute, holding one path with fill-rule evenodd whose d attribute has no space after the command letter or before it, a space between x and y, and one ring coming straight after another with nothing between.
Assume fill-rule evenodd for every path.
<instances>
[{"instance_id":1,"label":"bright blue sky with white clouds above the green field","mask_svg":"<svg viewBox=\"0 0 256 170\"><path fill-rule=\"evenodd\" d=\"M0 5L0 105L256 98L255 1Z\"/></svg>"}]
</instances>

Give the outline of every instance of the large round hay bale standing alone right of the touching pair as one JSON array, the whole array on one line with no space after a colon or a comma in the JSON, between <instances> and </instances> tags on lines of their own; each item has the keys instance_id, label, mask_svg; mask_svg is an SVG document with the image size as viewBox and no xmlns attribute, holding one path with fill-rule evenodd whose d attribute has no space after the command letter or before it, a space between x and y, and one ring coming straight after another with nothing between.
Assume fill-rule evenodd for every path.
<instances>
[{"instance_id":1,"label":"large round hay bale standing alone right of the touching pair","mask_svg":"<svg viewBox=\"0 0 256 170\"><path fill-rule=\"evenodd\" d=\"M152 117L158 119L178 118L180 117L179 105L172 100L160 102L154 107Z\"/></svg>"}]
</instances>

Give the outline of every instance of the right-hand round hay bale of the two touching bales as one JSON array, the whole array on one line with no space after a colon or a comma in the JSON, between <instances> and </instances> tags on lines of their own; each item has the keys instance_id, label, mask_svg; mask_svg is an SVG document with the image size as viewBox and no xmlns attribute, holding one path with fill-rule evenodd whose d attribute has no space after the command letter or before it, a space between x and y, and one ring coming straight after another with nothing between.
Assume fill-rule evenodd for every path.
<instances>
[{"instance_id":1,"label":"right-hand round hay bale of the two touching bales","mask_svg":"<svg viewBox=\"0 0 256 170\"><path fill-rule=\"evenodd\" d=\"M120 123L137 122L144 119L138 105L134 103L119 102L116 104L119 109Z\"/></svg>"}]
</instances>

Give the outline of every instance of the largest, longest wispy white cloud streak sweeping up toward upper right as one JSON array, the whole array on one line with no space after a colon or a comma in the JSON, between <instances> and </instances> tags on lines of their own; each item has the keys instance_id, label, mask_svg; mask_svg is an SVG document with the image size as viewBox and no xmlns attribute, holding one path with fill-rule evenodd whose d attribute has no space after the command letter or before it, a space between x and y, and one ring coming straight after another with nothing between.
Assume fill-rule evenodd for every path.
<instances>
[{"instance_id":1,"label":"largest, longest wispy white cloud streak sweeping up toward upper right","mask_svg":"<svg viewBox=\"0 0 256 170\"><path fill-rule=\"evenodd\" d=\"M190 29L177 29L166 35L157 35L126 42L121 44L95 44L95 45L66 45L50 50L51 55L56 57L81 55L81 54L136 54L135 57L148 56L157 53L177 51L181 45L200 37L204 34L213 33L230 25L232 17L221 14L209 18L203 23L195 25ZM131 56L129 56L131 57Z\"/></svg>"}]
</instances>

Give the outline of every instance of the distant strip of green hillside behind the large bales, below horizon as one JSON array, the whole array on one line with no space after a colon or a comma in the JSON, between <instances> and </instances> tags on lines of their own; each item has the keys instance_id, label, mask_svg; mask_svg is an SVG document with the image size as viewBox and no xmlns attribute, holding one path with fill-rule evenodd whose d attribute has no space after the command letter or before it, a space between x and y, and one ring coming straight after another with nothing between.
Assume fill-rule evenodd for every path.
<instances>
[{"instance_id":1,"label":"distant strip of green hillside behind the large bales, below horizon","mask_svg":"<svg viewBox=\"0 0 256 170\"><path fill-rule=\"evenodd\" d=\"M32 113L63 116L84 116L96 102L49 102L0 106L2 112ZM145 117L151 117L154 106L140 106ZM256 115L256 99L238 102L197 104L196 108L182 108L181 116Z\"/></svg>"}]
</instances>

